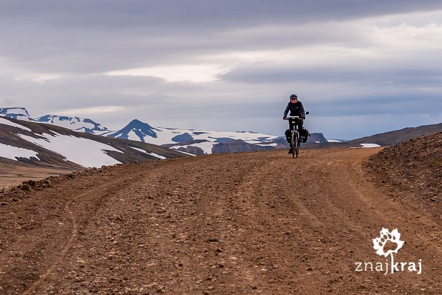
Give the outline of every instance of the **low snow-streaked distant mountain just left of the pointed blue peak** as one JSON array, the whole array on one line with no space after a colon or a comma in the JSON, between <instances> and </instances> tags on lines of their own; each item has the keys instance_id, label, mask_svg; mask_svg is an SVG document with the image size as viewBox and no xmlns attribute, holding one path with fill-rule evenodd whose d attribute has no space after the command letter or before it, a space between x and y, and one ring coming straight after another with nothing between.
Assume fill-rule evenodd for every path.
<instances>
[{"instance_id":1,"label":"low snow-streaked distant mountain just left of the pointed blue peak","mask_svg":"<svg viewBox=\"0 0 442 295\"><path fill-rule=\"evenodd\" d=\"M44 115L43 117L37 117L37 121L61 126L74 131L92 133L96 135L104 135L112 132L101 124L87 118Z\"/></svg>"}]
</instances>

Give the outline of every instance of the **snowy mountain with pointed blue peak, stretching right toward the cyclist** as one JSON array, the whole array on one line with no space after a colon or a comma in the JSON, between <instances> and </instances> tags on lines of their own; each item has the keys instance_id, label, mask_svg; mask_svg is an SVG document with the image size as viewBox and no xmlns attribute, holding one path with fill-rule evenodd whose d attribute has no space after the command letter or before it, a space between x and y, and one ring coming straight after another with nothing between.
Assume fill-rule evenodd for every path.
<instances>
[{"instance_id":1,"label":"snowy mountain with pointed blue peak, stretching right toward the cyclist","mask_svg":"<svg viewBox=\"0 0 442 295\"><path fill-rule=\"evenodd\" d=\"M220 143L224 144L223 151L228 151L229 149L225 148L225 144L227 142L233 143L235 140L242 140L246 144L254 144L257 150L262 146L271 149L278 146L278 143L274 142L274 140L278 138L275 135L249 131L222 132L153 127L140 120L133 120L124 126L123 129L115 133L108 133L106 136L164 145L171 149L186 151L188 153L196 152L198 154L213 153L213 147ZM236 143L236 146L238 146L238 143ZM248 146L247 149L249 150L250 147Z\"/></svg>"}]
</instances>

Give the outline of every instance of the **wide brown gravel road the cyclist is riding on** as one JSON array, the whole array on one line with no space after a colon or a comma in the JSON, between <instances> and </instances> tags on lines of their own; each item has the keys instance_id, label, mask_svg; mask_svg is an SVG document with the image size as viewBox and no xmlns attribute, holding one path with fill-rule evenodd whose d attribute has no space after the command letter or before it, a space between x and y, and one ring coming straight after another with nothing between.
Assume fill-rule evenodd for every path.
<instances>
[{"instance_id":1,"label":"wide brown gravel road the cyclist is riding on","mask_svg":"<svg viewBox=\"0 0 442 295\"><path fill-rule=\"evenodd\" d=\"M441 219L370 180L376 151L128 164L6 200L0 294L441 294ZM422 274L355 272L385 263L382 227Z\"/></svg>"}]
</instances>

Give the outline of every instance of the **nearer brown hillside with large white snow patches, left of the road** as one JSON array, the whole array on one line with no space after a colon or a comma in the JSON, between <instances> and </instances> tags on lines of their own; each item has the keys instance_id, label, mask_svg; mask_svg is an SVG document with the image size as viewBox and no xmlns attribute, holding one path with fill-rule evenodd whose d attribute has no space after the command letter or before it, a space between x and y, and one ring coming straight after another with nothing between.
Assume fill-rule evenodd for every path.
<instances>
[{"instance_id":1,"label":"nearer brown hillside with large white snow patches, left of the road","mask_svg":"<svg viewBox=\"0 0 442 295\"><path fill-rule=\"evenodd\" d=\"M0 117L0 162L8 164L14 164L12 160L75 169L183 155L153 144Z\"/></svg>"}]
</instances>

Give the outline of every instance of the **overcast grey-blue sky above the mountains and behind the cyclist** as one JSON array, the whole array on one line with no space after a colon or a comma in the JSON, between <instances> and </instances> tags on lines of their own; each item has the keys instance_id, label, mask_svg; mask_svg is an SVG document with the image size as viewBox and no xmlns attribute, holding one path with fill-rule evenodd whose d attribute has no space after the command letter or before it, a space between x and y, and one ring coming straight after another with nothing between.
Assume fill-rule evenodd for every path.
<instances>
[{"instance_id":1,"label":"overcast grey-blue sky above the mountains and behind the cyclist","mask_svg":"<svg viewBox=\"0 0 442 295\"><path fill-rule=\"evenodd\" d=\"M0 107L352 139L442 122L442 2L2 0Z\"/></svg>"}]
</instances>

